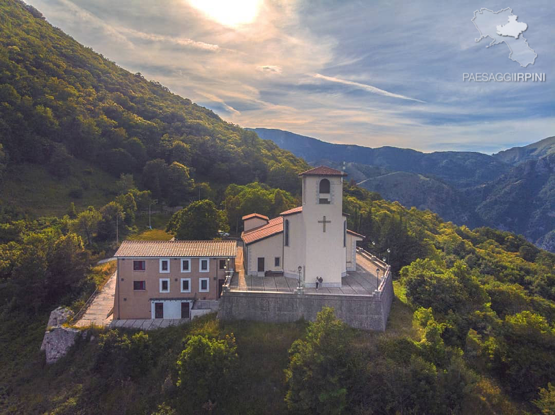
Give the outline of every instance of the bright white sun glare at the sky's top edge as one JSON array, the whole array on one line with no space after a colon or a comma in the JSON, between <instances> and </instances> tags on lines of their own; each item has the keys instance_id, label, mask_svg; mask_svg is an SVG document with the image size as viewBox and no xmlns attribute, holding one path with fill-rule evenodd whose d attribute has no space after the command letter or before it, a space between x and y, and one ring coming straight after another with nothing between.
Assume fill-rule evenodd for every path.
<instances>
[{"instance_id":1,"label":"bright white sun glare at the sky's top edge","mask_svg":"<svg viewBox=\"0 0 555 415\"><path fill-rule=\"evenodd\" d=\"M189 0L207 17L225 26L237 27L254 22L263 0Z\"/></svg>"}]
</instances>

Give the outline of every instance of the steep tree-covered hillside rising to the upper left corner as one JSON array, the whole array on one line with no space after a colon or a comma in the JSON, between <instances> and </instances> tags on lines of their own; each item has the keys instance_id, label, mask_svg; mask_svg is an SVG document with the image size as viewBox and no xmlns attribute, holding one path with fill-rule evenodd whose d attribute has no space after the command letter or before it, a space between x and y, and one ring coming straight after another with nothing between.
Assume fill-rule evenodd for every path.
<instances>
[{"instance_id":1,"label":"steep tree-covered hillside rising to the upper left corner","mask_svg":"<svg viewBox=\"0 0 555 415\"><path fill-rule=\"evenodd\" d=\"M0 1L0 27L0 171L7 180L18 178L22 163L45 166L58 181L83 170L114 179L132 173L175 206L188 201L195 183L284 187L283 176L306 167L273 142L119 68L22 2ZM68 189L76 202L88 181ZM175 187L166 188L168 181ZM286 190L298 191L294 185Z\"/></svg>"}]
</instances>

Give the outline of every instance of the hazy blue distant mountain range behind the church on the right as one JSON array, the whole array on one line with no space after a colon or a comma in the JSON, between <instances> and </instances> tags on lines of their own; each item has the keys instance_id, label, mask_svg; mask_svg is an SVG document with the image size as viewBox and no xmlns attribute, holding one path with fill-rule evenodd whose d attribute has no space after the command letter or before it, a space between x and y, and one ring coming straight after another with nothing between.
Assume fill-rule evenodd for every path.
<instances>
[{"instance_id":1,"label":"hazy blue distant mountain range behind the church on the right","mask_svg":"<svg viewBox=\"0 0 555 415\"><path fill-rule=\"evenodd\" d=\"M312 165L341 168L345 161L352 180L388 200L471 228L521 233L555 251L555 137L486 155L332 144L289 131L253 130Z\"/></svg>"}]
</instances>

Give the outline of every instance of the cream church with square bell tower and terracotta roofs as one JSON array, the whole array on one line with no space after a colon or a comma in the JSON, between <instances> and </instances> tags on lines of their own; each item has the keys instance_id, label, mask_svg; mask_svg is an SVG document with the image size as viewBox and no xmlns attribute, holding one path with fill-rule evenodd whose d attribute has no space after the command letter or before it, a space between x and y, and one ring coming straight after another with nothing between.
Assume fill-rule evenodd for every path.
<instances>
[{"instance_id":1,"label":"cream church with square bell tower and terracotta roofs","mask_svg":"<svg viewBox=\"0 0 555 415\"><path fill-rule=\"evenodd\" d=\"M356 242L364 235L347 229L343 212L346 173L316 167L300 173L302 205L270 219L243 217L243 263L251 276L284 275L307 288L340 288L347 271L356 270Z\"/></svg>"}]
</instances>

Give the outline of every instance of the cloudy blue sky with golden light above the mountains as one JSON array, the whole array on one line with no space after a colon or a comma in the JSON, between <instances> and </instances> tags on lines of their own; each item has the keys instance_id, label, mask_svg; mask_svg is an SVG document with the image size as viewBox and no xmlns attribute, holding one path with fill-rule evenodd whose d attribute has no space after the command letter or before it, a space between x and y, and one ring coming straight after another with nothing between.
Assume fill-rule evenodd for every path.
<instances>
[{"instance_id":1,"label":"cloudy blue sky with golden light above the mountains","mask_svg":"<svg viewBox=\"0 0 555 415\"><path fill-rule=\"evenodd\" d=\"M555 135L551 0L26 0L78 42L243 127L341 143L493 153ZM480 42L511 7L537 54ZM545 82L463 81L544 73Z\"/></svg>"}]
</instances>

